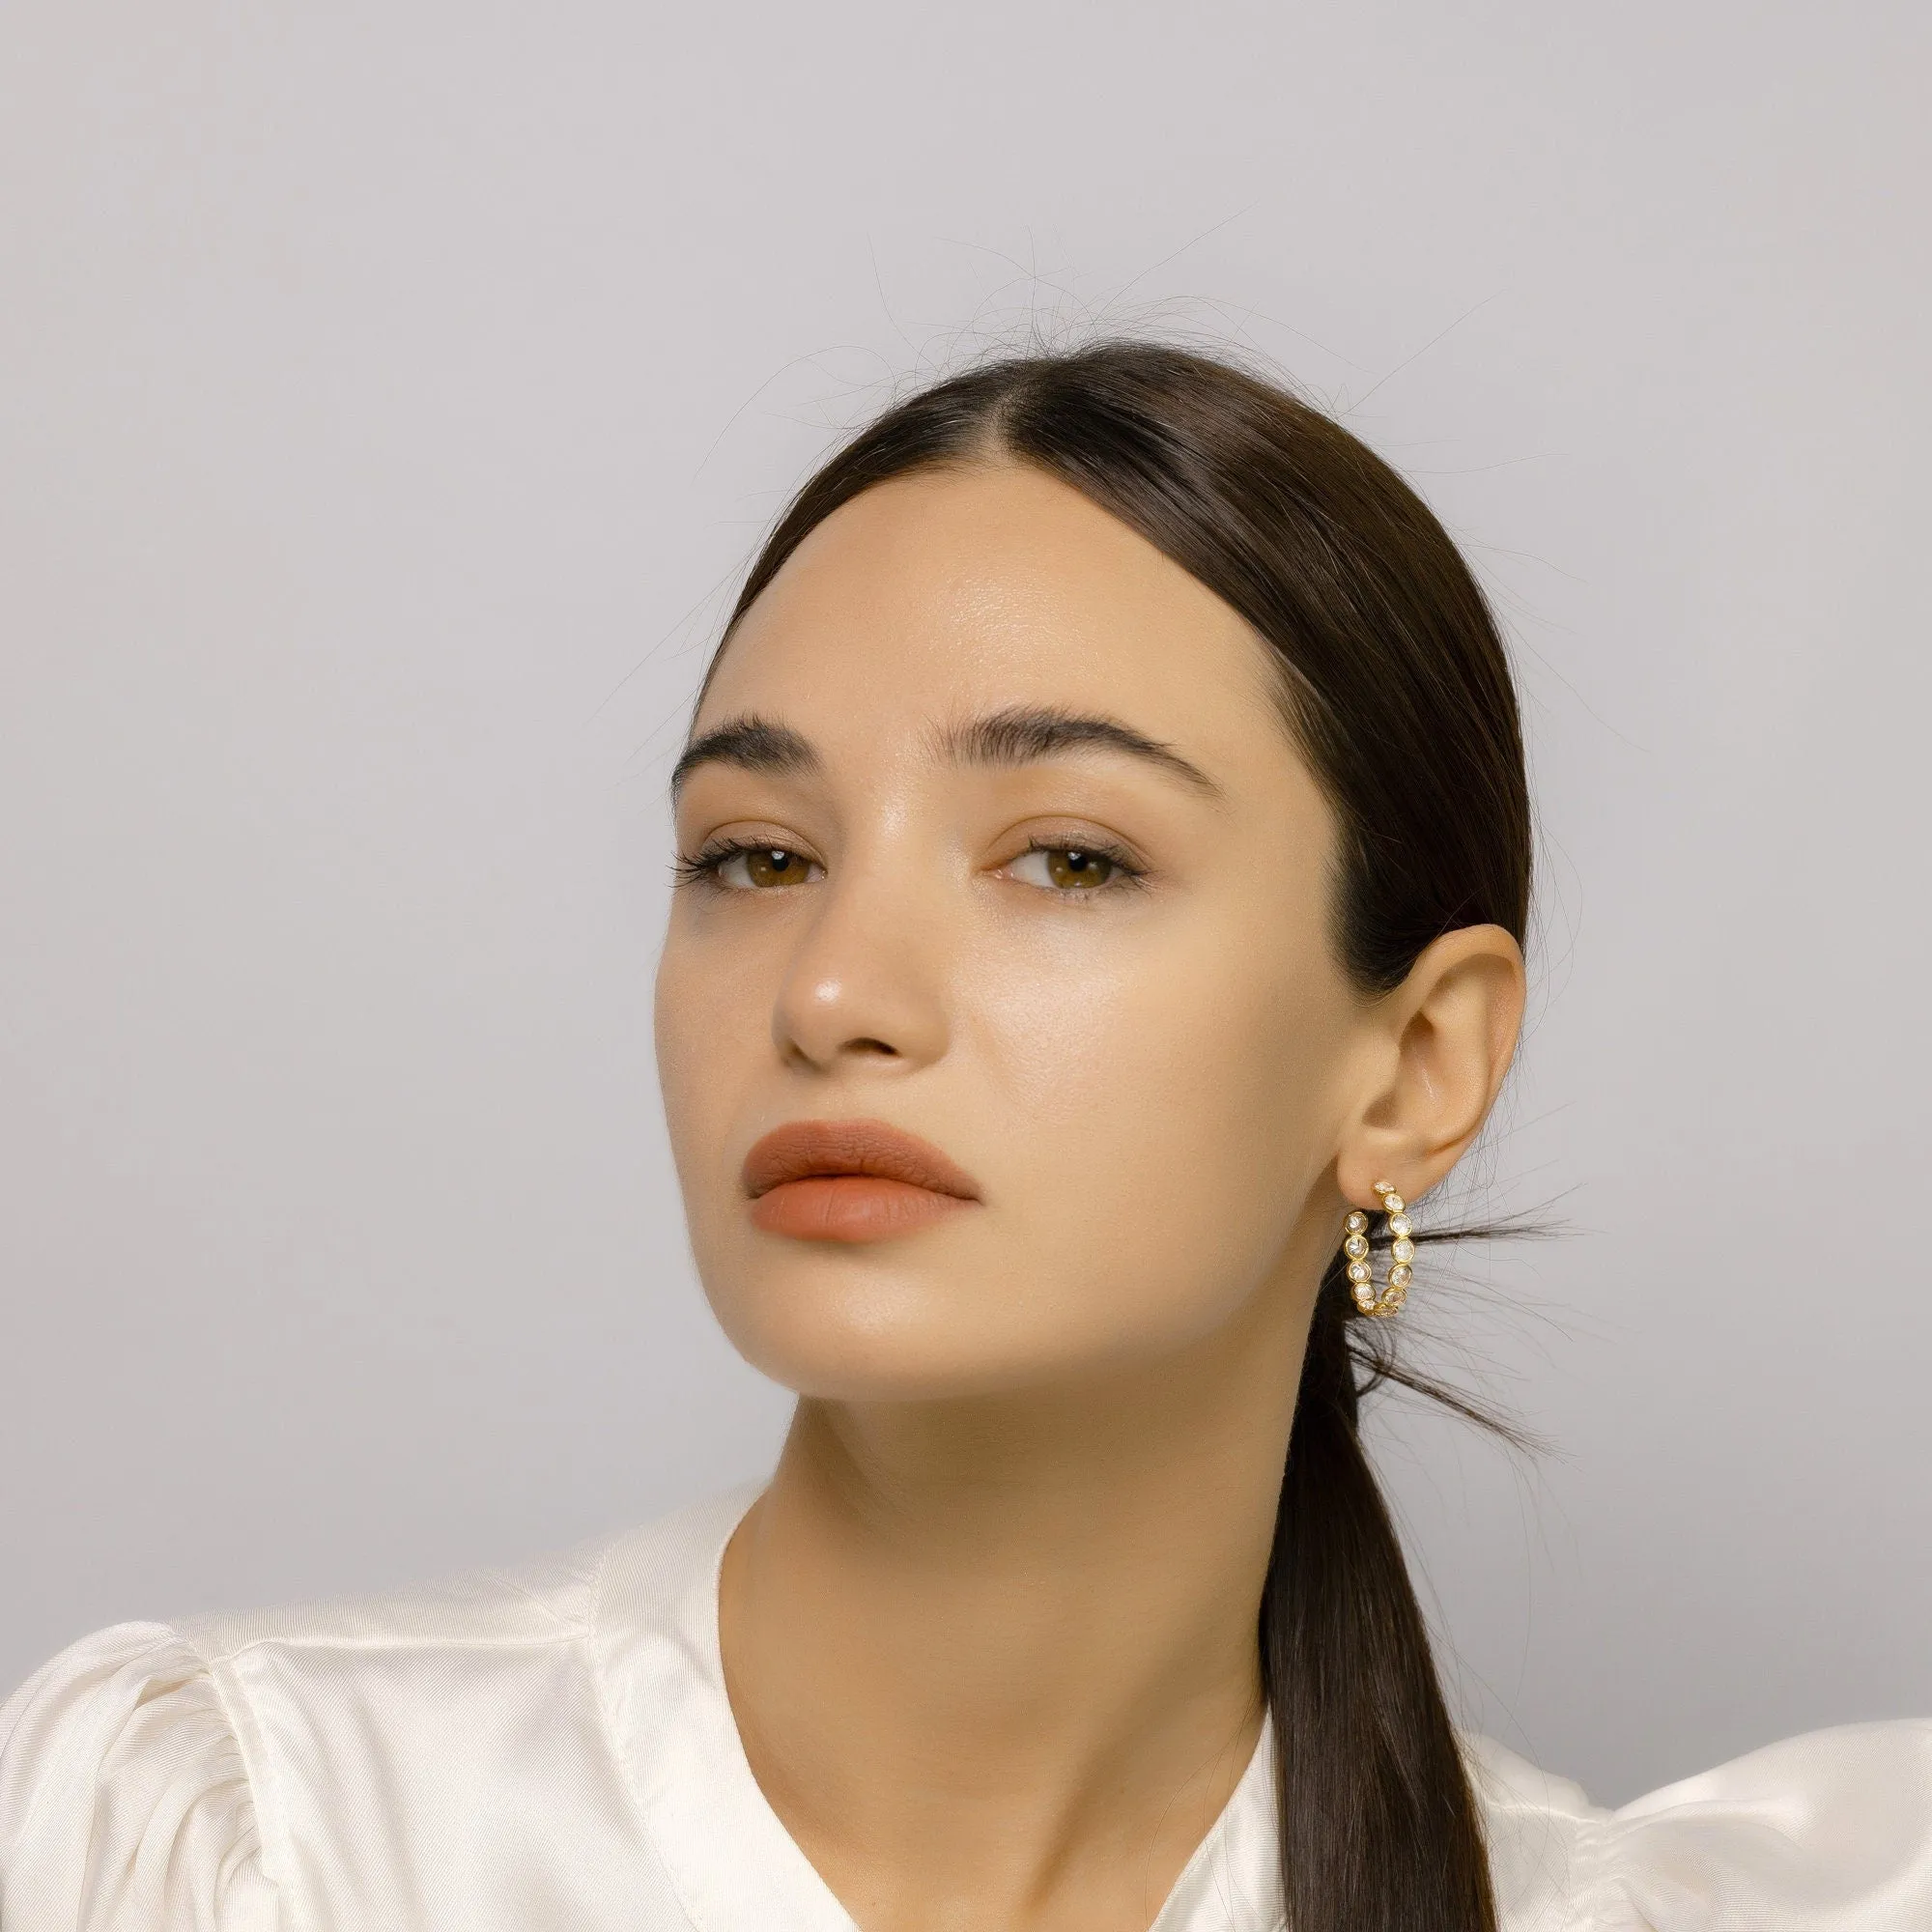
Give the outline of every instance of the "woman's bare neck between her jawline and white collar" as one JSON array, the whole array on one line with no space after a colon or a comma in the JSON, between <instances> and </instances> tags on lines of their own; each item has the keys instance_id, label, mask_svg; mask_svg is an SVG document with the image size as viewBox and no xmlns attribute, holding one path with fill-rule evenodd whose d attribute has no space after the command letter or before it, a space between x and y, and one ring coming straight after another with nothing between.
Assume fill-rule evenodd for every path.
<instances>
[{"instance_id":1,"label":"woman's bare neck between her jawline and white collar","mask_svg":"<svg viewBox=\"0 0 1932 1932\"><path fill-rule=\"evenodd\" d=\"M1264 1293L1161 1362L802 1401L724 1557L746 1756L866 1926L1146 1928L1262 1725L1306 1333Z\"/></svg>"}]
</instances>

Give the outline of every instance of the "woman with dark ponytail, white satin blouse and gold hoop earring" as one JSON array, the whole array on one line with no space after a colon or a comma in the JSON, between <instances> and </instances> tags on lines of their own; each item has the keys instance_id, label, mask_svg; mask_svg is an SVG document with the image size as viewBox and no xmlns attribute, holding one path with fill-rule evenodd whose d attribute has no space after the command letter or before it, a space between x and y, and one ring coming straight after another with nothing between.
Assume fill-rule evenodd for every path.
<instances>
[{"instance_id":1,"label":"woman with dark ponytail, white satin blouse and gold hoop earring","mask_svg":"<svg viewBox=\"0 0 1932 1932\"><path fill-rule=\"evenodd\" d=\"M1515 1051L1530 808L1378 458L1153 346L929 388L779 524L672 792L769 1486L75 1644L0 1719L4 1932L1932 1926L1932 1725L1617 1814L1451 1729L1356 1403Z\"/></svg>"}]
</instances>

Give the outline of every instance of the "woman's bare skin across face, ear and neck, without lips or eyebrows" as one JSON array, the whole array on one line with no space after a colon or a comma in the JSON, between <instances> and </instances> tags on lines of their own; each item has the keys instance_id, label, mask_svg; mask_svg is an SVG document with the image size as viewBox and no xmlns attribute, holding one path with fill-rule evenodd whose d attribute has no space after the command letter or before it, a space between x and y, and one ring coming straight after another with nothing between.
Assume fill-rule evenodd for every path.
<instances>
[{"instance_id":1,"label":"woman's bare skin across face, ear and neck, without lips or eyebrows","mask_svg":"<svg viewBox=\"0 0 1932 1932\"><path fill-rule=\"evenodd\" d=\"M1103 746L935 750L1010 707L1103 715L1213 790ZM657 978L705 1291L800 1395L721 1577L746 1756L866 1932L1146 1932L1260 1733L1321 1269L1376 1180L1414 1204L1476 1136L1522 956L1463 927L1364 999L1269 653L1028 468L821 524L694 736L746 717L810 765L697 765L678 852L796 860L680 883ZM1068 866L1095 848L1144 877ZM858 1117L935 1142L980 1202L877 1244L753 1227L746 1150Z\"/></svg>"}]
</instances>

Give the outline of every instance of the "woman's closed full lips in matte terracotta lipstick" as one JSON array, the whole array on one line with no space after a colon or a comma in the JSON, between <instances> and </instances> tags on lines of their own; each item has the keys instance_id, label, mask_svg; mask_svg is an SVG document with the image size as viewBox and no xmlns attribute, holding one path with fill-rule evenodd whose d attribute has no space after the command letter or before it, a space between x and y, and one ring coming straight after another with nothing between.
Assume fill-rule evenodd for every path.
<instances>
[{"instance_id":1,"label":"woman's closed full lips in matte terracotta lipstick","mask_svg":"<svg viewBox=\"0 0 1932 1932\"><path fill-rule=\"evenodd\" d=\"M790 1121L744 1159L752 1223L794 1240L887 1240L974 1206L980 1184L885 1121Z\"/></svg>"}]
</instances>

